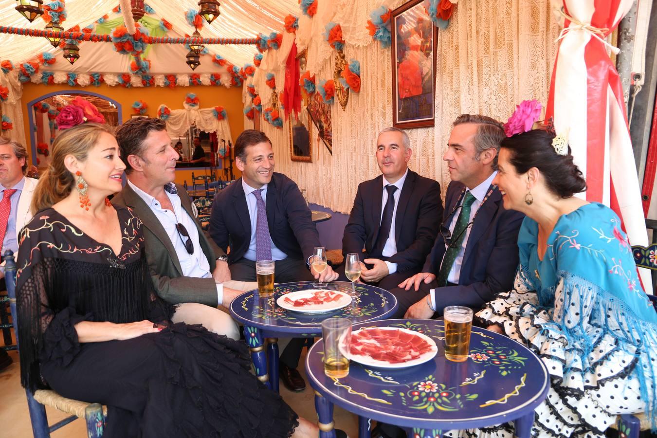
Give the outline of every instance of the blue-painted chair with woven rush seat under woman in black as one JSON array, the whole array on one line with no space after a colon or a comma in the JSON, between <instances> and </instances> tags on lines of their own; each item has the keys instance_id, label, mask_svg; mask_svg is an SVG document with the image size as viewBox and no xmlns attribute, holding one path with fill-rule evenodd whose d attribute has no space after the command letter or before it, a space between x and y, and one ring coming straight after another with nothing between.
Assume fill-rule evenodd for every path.
<instances>
[{"instance_id":1,"label":"blue-painted chair with woven rush seat under woman in black","mask_svg":"<svg viewBox=\"0 0 657 438\"><path fill-rule=\"evenodd\" d=\"M7 283L7 292L9 294L9 303L11 306L11 319L14 324L16 334L16 345L20 349L18 339L18 317L16 315L16 263L14 262L14 253L5 252L5 282ZM66 399L50 389L39 389L33 394L30 389L25 390L28 397L28 409L30 410L30 421L32 422L32 433L35 438L50 437L50 433L56 431L62 426L66 426L77 418L83 418L87 423L87 436L89 438L102 437L102 431L105 426L107 416L107 407L99 403L84 403L77 400ZM52 406L71 416L64 420L48 426L48 418L45 413L45 406Z\"/></svg>"}]
</instances>

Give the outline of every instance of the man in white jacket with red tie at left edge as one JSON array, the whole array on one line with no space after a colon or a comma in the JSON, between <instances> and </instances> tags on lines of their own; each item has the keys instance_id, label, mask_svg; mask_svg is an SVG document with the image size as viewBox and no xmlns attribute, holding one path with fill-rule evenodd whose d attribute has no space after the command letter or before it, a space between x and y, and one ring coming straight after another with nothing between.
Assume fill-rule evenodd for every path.
<instances>
[{"instance_id":1,"label":"man in white jacket with red tie at left edge","mask_svg":"<svg viewBox=\"0 0 657 438\"><path fill-rule=\"evenodd\" d=\"M0 137L0 235L3 236L2 254L18 252L18 233L32 219L32 192L37 185L34 178L26 178L27 150L22 144ZM5 278L5 262L0 265L0 278ZM0 285L5 290L4 281ZM5 312L0 313L5 320ZM5 339L5 342L8 339ZM11 339L9 339L11 343ZM0 370L11 364L11 357L0 350Z\"/></svg>"}]
</instances>

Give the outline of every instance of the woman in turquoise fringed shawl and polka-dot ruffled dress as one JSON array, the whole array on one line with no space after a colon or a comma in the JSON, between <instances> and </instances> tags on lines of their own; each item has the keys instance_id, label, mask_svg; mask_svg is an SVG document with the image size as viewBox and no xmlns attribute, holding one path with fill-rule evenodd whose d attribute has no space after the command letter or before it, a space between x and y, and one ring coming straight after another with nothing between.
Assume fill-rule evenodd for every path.
<instances>
[{"instance_id":1,"label":"woman in turquoise fringed shawl and polka-dot ruffled dress","mask_svg":"<svg viewBox=\"0 0 657 438\"><path fill-rule=\"evenodd\" d=\"M566 142L547 131L505 139L493 183L505 208L527 217L515 289L478 317L528 345L551 374L532 436L602 437L618 414L636 412L646 412L654 426L657 313L620 219L573 196L586 189L585 181ZM509 425L462 431L511 433Z\"/></svg>"}]
</instances>

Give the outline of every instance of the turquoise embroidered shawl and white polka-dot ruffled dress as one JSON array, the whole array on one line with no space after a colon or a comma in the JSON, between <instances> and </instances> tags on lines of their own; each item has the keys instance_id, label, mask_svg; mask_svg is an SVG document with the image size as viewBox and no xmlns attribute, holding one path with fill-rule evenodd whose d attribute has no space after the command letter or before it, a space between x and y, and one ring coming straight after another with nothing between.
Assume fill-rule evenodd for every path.
<instances>
[{"instance_id":1,"label":"turquoise embroidered shawl and white polka-dot ruffled dress","mask_svg":"<svg viewBox=\"0 0 657 438\"><path fill-rule=\"evenodd\" d=\"M532 435L602 437L618 414L654 418L657 313L620 219L596 203L562 215L542 260L537 237L538 225L527 217L518 235L515 289L478 313L533 349L551 374ZM461 435L511 431L503 425Z\"/></svg>"}]
</instances>

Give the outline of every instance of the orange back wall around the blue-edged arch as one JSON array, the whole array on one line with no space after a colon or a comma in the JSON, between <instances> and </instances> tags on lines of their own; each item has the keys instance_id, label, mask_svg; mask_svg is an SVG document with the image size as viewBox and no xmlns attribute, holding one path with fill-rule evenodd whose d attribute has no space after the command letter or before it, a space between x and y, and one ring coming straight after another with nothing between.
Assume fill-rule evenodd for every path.
<instances>
[{"instance_id":1,"label":"orange back wall around the blue-edged arch","mask_svg":"<svg viewBox=\"0 0 657 438\"><path fill-rule=\"evenodd\" d=\"M63 93L74 93L75 91L90 91L99 95L104 95L110 99L114 99L122 106L123 120L129 120L130 115L133 114L132 104L135 100L143 100L148 104L147 114L150 117L157 117L158 107L165 104L171 110L183 108L183 100L187 93L195 93L200 99L200 108L212 108L213 106L223 106L228 116L228 123L231 126L232 141L235 144L235 139L244 131L244 115L242 113L242 89L240 87L215 87L215 86L192 86L192 87L176 87L170 89L168 87L140 87L140 88L124 88L120 86L110 87L101 84L100 87L69 87L68 85L43 85L28 82L23 87L23 106L34 99L53 93L55 91L62 91ZM23 108L24 123L25 123L25 138L28 143L28 150L30 144L30 120L26 113L27 108ZM223 170L219 171L223 177ZM196 174L203 174L204 171L195 171ZM233 165L233 174L238 177L240 171ZM176 183L182 184L183 180L187 179L187 183L191 185L191 171L179 170L176 172Z\"/></svg>"}]
</instances>

